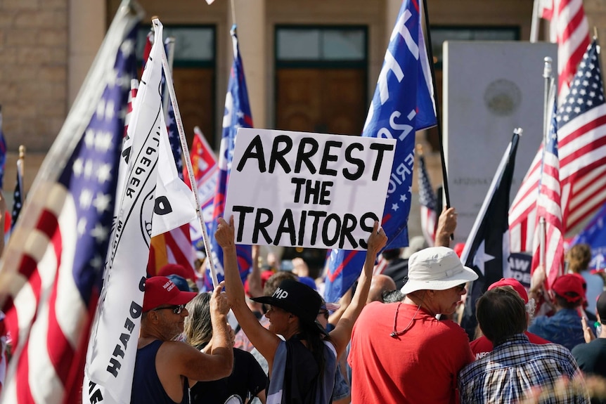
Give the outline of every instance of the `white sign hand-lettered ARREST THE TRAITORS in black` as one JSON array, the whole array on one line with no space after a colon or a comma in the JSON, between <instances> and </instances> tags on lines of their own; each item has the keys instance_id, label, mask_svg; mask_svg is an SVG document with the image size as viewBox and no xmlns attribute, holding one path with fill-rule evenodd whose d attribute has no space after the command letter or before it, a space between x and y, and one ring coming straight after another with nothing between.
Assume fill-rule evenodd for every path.
<instances>
[{"instance_id":1,"label":"white sign hand-lettered ARREST THE TRAITORS in black","mask_svg":"<svg viewBox=\"0 0 606 404\"><path fill-rule=\"evenodd\" d=\"M388 186L412 175L392 174L395 143L238 129L225 207L236 243L366 249Z\"/></svg>"}]
</instances>

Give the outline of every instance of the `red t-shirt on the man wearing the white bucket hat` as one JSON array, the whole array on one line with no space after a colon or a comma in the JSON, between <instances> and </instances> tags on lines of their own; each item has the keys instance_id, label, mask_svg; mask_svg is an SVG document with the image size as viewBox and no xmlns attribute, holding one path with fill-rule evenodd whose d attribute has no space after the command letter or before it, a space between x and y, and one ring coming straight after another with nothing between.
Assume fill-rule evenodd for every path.
<instances>
[{"instance_id":1,"label":"red t-shirt on the man wearing the white bucket hat","mask_svg":"<svg viewBox=\"0 0 606 404\"><path fill-rule=\"evenodd\" d=\"M455 403L458 371L473 361L468 335L456 322L439 321L418 306L373 302L354 325L348 362L352 404Z\"/></svg>"}]
</instances>

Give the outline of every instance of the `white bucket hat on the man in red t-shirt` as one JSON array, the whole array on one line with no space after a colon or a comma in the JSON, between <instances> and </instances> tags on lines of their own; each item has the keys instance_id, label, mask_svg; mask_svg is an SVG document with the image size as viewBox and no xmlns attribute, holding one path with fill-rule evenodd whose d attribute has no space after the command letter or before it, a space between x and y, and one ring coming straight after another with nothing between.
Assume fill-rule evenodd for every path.
<instances>
[{"instance_id":1,"label":"white bucket hat on the man in red t-shirt","mask_svg":"<svg viewBox=\"0 0 606 404\"><path fill-rule=\"evenodd\" d=\"M417 290L446 290L476 279L477 273L463 266L452 249L429 247L408 259L408 282L400 290L404 294Z\"/></svg>"}]
</instances>

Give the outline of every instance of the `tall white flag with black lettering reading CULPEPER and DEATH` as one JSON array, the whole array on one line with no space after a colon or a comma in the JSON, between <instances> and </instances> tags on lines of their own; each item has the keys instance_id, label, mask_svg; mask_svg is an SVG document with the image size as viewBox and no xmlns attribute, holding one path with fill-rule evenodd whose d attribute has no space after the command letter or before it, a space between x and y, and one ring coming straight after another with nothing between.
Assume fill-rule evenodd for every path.
<instances>
[{"instance_id":1,"label":"tall white flag with black lettering reading CULPEPER and DEATH","mask_svg":"<svg viewBox=\"0 0 606 404\"><path fill-rule=\"evenodd\" d=\"M123 182L124 189L118 190L121 204L86 358L89 382L84 384L83 396L91 403L98 402L99 396L103 403L129 403L150 237L189 223L194 214L191 204L191 214L183 213L183 205L190 202L179 198L183 194L181 185L187 187L177 182L179 176L170 151L158 91L165 58L162 24L157 19L153 24L156 41L134 100L128 135L132 143L125 149L130 151L123 152L128 158L127 181Z\"/></svg>"}]
</instances>

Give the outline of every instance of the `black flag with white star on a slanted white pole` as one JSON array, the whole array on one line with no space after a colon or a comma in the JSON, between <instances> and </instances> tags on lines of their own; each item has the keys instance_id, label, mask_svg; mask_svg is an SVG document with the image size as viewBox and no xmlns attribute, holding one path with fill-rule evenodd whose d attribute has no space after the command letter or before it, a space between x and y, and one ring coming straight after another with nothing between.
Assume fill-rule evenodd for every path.
<instances>
[{"instance_id":1,"label":"black flag with white star on a slanted white pole","mask_svg":"<svg viewBox=\"0 0 606 404\"><path fill-rule=\"evenodd\" d=\"M475 219L471 233L465 242L460 260L478 275L468 289L461 327L474 338L477 320L475 302L488 287L501 278L510 278L509 272L509 191L515 154L520 133L513 133L511 142L503 154L501 163L486 193L482 207Z\"/></svg>"}]
</instances>

